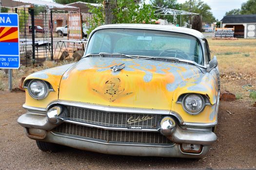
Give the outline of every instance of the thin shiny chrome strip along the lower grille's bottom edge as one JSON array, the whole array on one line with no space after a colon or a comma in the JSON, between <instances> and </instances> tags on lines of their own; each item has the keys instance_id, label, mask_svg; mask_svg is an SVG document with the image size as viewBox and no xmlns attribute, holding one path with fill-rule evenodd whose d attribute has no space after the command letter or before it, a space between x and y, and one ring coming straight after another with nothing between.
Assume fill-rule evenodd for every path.
<instances>
[{"instance_id":1,"label":"thin shiny chrome strip along the lower grille's bottom edge","mask_svg":"<svg viewBox=\"0 0 256 170\"><path fill-rule=\"evenodd\" d=\"M101 144L105 144L105 145L123 145L123 146L149 146L149 147L173 147L174 145L176 145L176 143L173 143L171 144L170 146L159 146L159 145L136 145L136 144L125 144L125 143L106 143L106 142L100 142L100 141L96 141L96 140L89 140L89 139L84 139L84 138L78 138L78 137L72 137L72 136L63 136L63 135L59 135L59 134L56 134L54 132L51 131L51 133L53 135L56 135L56 136L61 136L61 137L67 137L67 138L72 138L72 139L78 139L78 140L84 140L84 141L89 141L89 142L95 142L95 143L101 143Z\"/></svg>"}]
</instances>

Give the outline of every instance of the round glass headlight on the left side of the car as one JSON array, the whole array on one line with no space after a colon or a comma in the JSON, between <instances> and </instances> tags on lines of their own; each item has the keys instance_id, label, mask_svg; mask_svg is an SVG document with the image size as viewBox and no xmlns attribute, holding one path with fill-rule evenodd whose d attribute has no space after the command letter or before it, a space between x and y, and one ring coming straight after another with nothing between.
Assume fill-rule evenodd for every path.
<instances>
[{"instance_id":1,"label":"round glass headlight on the left side of the car","mask_svg":"<svg viewBox=\"0 0 256 170\"><path fill-rule=\"evenodd\" d=\"M33 80L28 85L28 92L30 96L35 99L44 99L47 97L48 88L45 82L41 80Z\"/></svg>"}]
</instances>

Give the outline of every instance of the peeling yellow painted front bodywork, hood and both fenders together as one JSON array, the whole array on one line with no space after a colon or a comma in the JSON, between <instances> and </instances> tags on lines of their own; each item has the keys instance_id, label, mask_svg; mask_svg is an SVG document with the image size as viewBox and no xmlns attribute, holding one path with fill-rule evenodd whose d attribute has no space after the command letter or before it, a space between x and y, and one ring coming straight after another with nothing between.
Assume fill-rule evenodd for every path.
<instances>
[{"instance_id":1,"label":"peeling yellow painted front bodywork, hood and both fenders together","mask_svg":"<svg viewBox=\"0 0 256 170\"><path fill-rule=\"evenodd\" d=\"M125 68L117 72L110 69L122 63L125 63ZM83 58L70 67L63 67L62 72L60 69L59 75L48 70L28 76L26 80L49 82L55 92L38 101L26 91L25 104L45 108L52 101L64 100L170 110L179 114L185 122L211 123L217 119L214 114L218 93L215 73L202 73L199 68L185 64L118 58ZM206 95L211 105L207 105L198 115L189 115L177 103L178 97L185 93Z\"/></svg>"}]
</instances>

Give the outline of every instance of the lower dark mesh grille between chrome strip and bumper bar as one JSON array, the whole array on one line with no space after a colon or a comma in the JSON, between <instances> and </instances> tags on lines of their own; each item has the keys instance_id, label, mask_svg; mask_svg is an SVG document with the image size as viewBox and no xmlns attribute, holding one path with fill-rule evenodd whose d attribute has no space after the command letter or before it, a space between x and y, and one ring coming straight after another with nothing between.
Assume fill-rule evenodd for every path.
<instances>
[{"instance_id":1,"label":"lower dark mesh grille between chrome strip and bumper bar","mask_svg":"<svg viewBox=\"0 0 256 170\"><path fill-rule=\"evenodd\" d=\"M142 131L112 131L92 128L72 123L62 123L54 129L55 132L84 136L93 139L104 140L104 142L136 142L136 143L172 143L158 132Z\"/></svg>"}]
</instances>

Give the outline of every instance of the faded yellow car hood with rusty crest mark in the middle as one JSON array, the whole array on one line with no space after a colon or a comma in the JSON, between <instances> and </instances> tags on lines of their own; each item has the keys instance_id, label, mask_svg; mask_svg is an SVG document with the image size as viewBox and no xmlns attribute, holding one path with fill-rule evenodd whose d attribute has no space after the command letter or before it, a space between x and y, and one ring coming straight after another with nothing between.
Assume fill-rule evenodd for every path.
<instances>
[{"instance_id":1,"label":"faded yellow car hood with rusty crest mark in the middle","mask_svg":"<svg viewBox=\"0 0 256 170\"><path fill-rule=\"evenodd\" d=\"M123 63L121 70L110 69ZM203 75L196 66L180 63L85 57L63 74L59 100L171 110L175 90Z\"/></svg>"}]
</instances>

